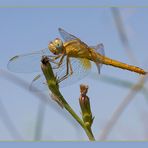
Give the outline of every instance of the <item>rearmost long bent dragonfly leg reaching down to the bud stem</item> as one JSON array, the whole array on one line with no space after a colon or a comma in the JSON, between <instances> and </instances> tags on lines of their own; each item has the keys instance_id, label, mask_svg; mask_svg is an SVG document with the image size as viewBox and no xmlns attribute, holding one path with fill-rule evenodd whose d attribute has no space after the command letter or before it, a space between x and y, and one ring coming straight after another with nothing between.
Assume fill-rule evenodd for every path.
<instances>
[{"instance_id":1,"label":"rearmost long bent dragonfly leg reaching down to the bud stem","mask_svg":"<svg viewBox=\"0 0 148 148\"><path fill-rule=\"evenodd\" d=\"M63 77L61 77L60 79L59 79L59 83L60 82L62 82L63 80L65 80L65 79L67 79L69 76L71 76L72 74L73 74L73 70L72 70L72 65L71 65L71 62L70 62L70 59L69 59L69 57L67 56L67 59L66 59L66 74L63 76ZM70 70L70 72L69 72L69 70Z\"/></svg>"}]
</instances>

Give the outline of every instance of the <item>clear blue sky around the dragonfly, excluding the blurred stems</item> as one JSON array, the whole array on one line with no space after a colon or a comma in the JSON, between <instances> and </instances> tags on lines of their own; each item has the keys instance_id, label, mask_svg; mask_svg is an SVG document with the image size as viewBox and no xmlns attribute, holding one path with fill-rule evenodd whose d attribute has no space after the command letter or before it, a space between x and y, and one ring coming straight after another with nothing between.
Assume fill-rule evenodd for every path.
<instances>
[{"instance_id":1,"label":"clear blue sky around the dragonfly, excluding the blurred stems","mask_svg":"<svg viewBox=\"0 0 148 148\"><path fill-rule=\"evenodd\" d=\"M16 3L19 4L18 1ZM15 5L15 3L13 4ZM27 2L24 4L27 5ZM29 5L31 4L29 3ZM56 2L53 2L54 4L57 5ZM8 3L2 1L2 5L8 5ZM120 12L131 49L138 59L137 66L147 68L148 9L121 8ZM8 71L7 63L12 56L46 48L49 41L60 37L58 27L78 36L88 45L96 45L101 42L105 46L106 56L132 64L121 44L110 8L0 8L0 20L0 68L2 70ZM95 116L93 131L98 137L101 129L129 90L103 83L99 80L99 76L98 79L93 78L94 73L97 73L95 66L92 71L88 77L74 85L62 88L61 92L80 115L79 85L81 83L89 85L88 95L91 98L92 112ZM12 74L30 83L37 73ZM109 75L133 83L136 83L139 78L134 73L109 66L102 67L101 75ZM30 92L3 77L0 78L0 83L2 84L0 85L0 99L13 122L24 139L33 139L40 101ZM44 93L48 95L48 92ZM85 133L73 119L70 119L71 117L66 111L58 109L52 101L49 104L49 107L48 105L45 107L43 139L86 139ZM109 139L143 139L143 113L147 114L148 109L145 98L139 93L121 116ZM13 139L2 120L0 120L0 131L1 140ZM129 131L131 132L129 133Z\"/></svg>"}]
</instances>

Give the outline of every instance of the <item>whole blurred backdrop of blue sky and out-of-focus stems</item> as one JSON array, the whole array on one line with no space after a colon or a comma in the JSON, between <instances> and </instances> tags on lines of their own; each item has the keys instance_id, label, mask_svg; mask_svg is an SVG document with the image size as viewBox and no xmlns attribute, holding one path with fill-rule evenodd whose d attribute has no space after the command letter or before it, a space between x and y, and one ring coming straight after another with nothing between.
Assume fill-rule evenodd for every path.
<instances>
[{"instance_id":1,"label":"whole blurred backdrop of blue sky and out-of-focus stems","mask_svg":"<svg viewBox=\"0 0 148 148\"><path fill-rule=\"evenodd\" d=\"M148 69L147 12L117 7L0 8L0 140L87 140L48 91L29 90L38 73L13 73L7 63L15 55L46 48L60 37L61 27L88 45L103 43L110 58ZM140 75L105 65L98 75L94 65L87 77L61 88L61 93L80 115L79 85L89 85L97 140L147 140L148 88L145 81L141 90L134 89L139 79Z\"/></svg>"}]
</instances>

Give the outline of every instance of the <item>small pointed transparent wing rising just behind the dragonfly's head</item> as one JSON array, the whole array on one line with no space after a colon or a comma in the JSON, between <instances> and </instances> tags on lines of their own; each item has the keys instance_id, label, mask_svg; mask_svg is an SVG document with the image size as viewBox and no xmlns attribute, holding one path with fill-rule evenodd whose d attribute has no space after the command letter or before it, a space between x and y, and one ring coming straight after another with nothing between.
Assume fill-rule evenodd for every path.
<instances>
[{"instance_id":1,"label":"small pointed transparent wing rising just behind the dragonfly's head","mask_svg":"<svg viewBox=\"0 0 148 148\"><path fill-rule=\"evenodd\" d=\"M79 38L77 38L77 37L75 37L74 35L72 35L72 34L66 32L66 31L65 31L64 29L62 29L62 28L59 28L58 30L59 30L59 33L60 33L61 37L64 39L65 42L68 42L68 41L70 41L70 40L75 40L75 39L78 39L78 40L79 40Z\"/></svg>"}]
</instances>

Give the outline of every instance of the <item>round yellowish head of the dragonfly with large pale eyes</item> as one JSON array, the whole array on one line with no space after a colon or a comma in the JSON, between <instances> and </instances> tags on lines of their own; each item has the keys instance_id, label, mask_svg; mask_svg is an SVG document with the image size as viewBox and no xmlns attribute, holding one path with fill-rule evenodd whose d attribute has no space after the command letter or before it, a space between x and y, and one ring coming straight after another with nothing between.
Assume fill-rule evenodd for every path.
<instances>
[{"instance_id":1,"label":"round yellowish head of the dragonfly with large pale eyes","mask_svg":"<svg viewBox=\"0 0 148 148\"><path fill-rule=\"evenodd\" d=\"M53 54L58 55L60 53L63 53L63 42L61 39L56 38L54 41L48 44L48 48Z\"/></svg>"}]
</instances>

